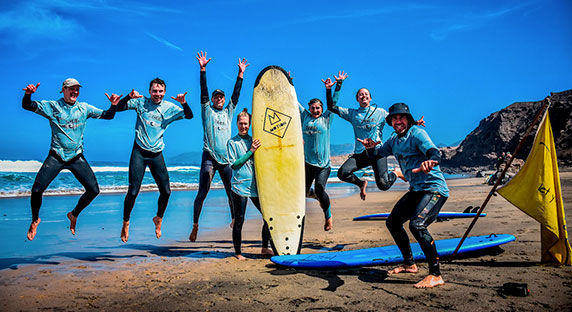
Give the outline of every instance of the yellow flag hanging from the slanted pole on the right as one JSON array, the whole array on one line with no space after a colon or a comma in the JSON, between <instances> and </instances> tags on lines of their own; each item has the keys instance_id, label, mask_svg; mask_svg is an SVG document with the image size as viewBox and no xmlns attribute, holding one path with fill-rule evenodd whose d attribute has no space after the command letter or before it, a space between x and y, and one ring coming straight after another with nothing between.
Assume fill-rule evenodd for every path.
<instances>
[{"instance_id":1,"label":"yellow flag hanging from the slanted pole on the right","mask_svg":"<svg viewBox=\"0 0 572 312\"><path fill-rule=\"evenodd\" d=\"M568 242L560 174L548 110L524 166L497 192L540 222L542 262L572 264L572 248Z\"/></svg>"}]
</instances>

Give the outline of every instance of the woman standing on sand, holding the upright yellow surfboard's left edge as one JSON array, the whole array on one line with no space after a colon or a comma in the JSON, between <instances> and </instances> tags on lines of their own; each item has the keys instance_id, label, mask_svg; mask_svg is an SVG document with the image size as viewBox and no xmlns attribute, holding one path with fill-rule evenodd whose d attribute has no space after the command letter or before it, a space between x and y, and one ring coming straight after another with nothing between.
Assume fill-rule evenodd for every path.
<instances>
[{"instance_id":1,"label":"woman standing on sand, holding the upright yellow surfboard's left edge","mask_svg":"<svg viewBox=\"0 0 572 312\"><path fill-rule=\"evenodd\" d=\"M260 140L252 140L248 135L250 129L250 114L246 108L240 112L236 118L238 134L228 140L228 160L232 168L231 196L234 210L234 224L232 226L232 244L234 245L235 257L238 260L246 260L240 250L242 244L242 225L244 224L244 214L248 198L254 206L260 210L260 201L256 189L254 177L254 152L260 147ZM262 212L262 211L261 211ZM270 241L270 231L268 224L264 221L262 227L262 251L263 257L273 256L274 253L268 248Z\"/></svg>"}]
</instances>

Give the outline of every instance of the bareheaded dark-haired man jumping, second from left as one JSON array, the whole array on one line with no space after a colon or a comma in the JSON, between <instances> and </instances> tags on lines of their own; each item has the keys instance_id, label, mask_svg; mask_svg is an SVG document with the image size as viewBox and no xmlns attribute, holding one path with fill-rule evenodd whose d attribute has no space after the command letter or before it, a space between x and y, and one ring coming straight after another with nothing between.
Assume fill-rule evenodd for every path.
<instances>
[{"instance_id":1,"label":"bareheaded dark-haired man jumping, second from left","mask_svg":"<svg viewBox=\"0 0 572 312\"><path fill-rule=\"evenodd\" d=\"M119 101L117 107L118 111L131 109L137 112L135 142L129 159L129 188L123 202L123 227L121 228L121 240L123 242L127 242L129 239L129 217L139 194L146 167L149 167L159 188L157 215L153 217L153 223L155 224L155 236L161 237L163 214L167 209L169 196L171 196L169 172L163 158L163 149L165 148L163 134L173 121L193 118L193 112L185 100L187 92L178 94L177 97L171 97L181 103L183 107L181 108L163 99L165 91L165 82L155 78L149 83L151 97L144 97L133 89L129 95Z\"/></svg>"}]
</instances>

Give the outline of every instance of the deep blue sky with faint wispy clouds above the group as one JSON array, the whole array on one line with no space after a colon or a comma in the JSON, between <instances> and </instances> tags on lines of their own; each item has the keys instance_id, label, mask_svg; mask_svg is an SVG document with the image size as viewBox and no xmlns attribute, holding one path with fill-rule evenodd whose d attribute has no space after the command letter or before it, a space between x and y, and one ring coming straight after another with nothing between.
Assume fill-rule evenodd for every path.
<instances>
[{"instance_id":1,"label":"deep blue sky with faint wispy clouds above the group","mask_svg":"<svg viewBox=\"0 0 572 312\"><path fill-rule=\"evenodd\" d=\"M367 87L380 107L405 102L424 115L435 143L461 140L513 102L572 88L566 0L2 1L0 39L0 159L11 160L43 160L50 144L48 121L21 108L21 89L41 82L33 99L58 99L67 77L84 86L80 101L100 108L109 105L105 92L148 95L149 81L163 78L168 97L188 92L196 116L167 130L166 157L200 151L201 50L213 58L211 91L230 94L238 58L248 59L238 110L250 110L254 80L268 65L292 72L302 104L324 100L321 79L345 70L340 106L357 107L354 94ZM134 125L133 111L89 120L87 159L128 161ZM336 118L331 143L353 140L350 124Z\"/></svg>"}]
</instances>

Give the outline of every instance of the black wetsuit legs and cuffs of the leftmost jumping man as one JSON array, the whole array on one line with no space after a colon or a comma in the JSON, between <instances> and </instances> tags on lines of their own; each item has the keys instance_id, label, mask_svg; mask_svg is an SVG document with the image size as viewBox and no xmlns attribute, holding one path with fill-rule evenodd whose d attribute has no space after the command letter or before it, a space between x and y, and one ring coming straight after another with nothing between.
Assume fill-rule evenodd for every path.
<instances>
[{"instance_id":1,"label":"black wetsuit legs and cuffs of the leftmost jumping man","mask_svg":"<svg viewBox=\"0 0 572 312\"><path fill-rule=\"evenodd\" d=\"M31 112L36 112L38 105L31 100L31 94L25 94L22 99L22 108ZM104 111L99 119L113 119L115 117L116 107L111 106ZM70 160L63 160L54 150L50 150L48 157L44 160L42 167L36 175L34 184L32 185L32 195L30 202L32 207L32 221L37 221L40 215L40 207L42 206L42 194L48 188L50 183L56 178L60 171L68 169L74 177L85 188L85 192L79 198L77 205L72 210L72 215L76 218L81 211L89 205L93 199L99 194L99 185L93 170L87 163L87 160L80 153Z\"/></svg>"}]
</instances>

